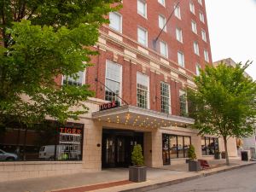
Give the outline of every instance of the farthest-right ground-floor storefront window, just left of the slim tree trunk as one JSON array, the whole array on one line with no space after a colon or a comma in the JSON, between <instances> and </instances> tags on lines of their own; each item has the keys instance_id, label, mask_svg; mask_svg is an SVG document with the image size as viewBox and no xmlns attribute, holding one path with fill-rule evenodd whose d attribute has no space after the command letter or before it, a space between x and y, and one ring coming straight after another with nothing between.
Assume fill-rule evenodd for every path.
<instances>
[{"instance_id":1,"label":"farthest-right ground-floor storefront window, just left of the slim tree trunk","mask_svg":"<svg viewBox=\"0 0 256 192\"><path fill-rule=\"evenodd\" d=\"M201 154L212 155L218 151L218 138L201 137Z\"/></svg>"}]
</instances>

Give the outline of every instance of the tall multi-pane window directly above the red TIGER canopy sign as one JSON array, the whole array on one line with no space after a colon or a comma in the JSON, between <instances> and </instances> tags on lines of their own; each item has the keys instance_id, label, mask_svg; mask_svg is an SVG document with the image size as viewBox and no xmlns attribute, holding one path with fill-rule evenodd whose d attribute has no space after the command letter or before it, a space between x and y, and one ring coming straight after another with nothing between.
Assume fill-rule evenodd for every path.
<instances>
[{"instance_id":1,"label":"tall multi-pane window directly above the red TIGER canopy sign","mask_svg":"<svg viewBox=\"0 0 256 192\"><path fill-rule=\"evenodd\" d=\"M105 100L119 101L122 80L122 67L119 64L107 61L105 79Z\"/></svg>"}]
</instances>

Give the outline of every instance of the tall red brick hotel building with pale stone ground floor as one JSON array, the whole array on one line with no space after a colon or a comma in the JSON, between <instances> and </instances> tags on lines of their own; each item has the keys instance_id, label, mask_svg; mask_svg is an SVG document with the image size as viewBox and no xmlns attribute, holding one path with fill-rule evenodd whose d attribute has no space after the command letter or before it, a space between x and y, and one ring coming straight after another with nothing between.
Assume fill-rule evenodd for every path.
<instances>
[{"instance_id":1,"label":"tall red brick hotel building with pale stone ground floor","mask_svg":"<svg viewBox=\"0 0 256 192\"><path fill-rule=\"evenodd\" d=\"M72 172L129 166L136 143L143 146L145 165L153 167L184 163L191 143L198 158L223 151L222 139L198 136L189 128L194 120L187 115L185 90L195 89L199 68L212 65L205 1L123 0L123 8L109 19L93 48L99 51L91 59L94 66L79 73L79 79L56 79L58 84L90 84L96 92L87 101L90 112L69 122L84 126L82 159L67 162ZM115 101L118 108L107 104L108 110L100 110L102 104ZM236 156L236 140L229 144L230 156ZM71 156L70 151L66 154ZM60 168L65 162L31 164L34 170L16 162L32 173L16 177L15 169L9 168L5 180L67 173ZM51 167L43 175L36 173L41 164Z\"/></svg>"}]
</instances>

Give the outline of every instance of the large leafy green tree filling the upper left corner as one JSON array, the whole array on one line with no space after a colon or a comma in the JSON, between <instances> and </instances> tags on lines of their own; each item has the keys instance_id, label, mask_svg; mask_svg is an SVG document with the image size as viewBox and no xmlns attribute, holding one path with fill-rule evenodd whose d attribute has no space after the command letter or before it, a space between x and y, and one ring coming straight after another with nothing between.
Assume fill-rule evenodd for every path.
<instances>
[{"instance_id":1,"label":"large leafy green tree filling the upper left corner","mask_svg":"<svg viewBox=\"0 0 256 192\"><path fill-rule=\"evenodd\" d=\"M89 85L59 87L55 78L76 79L91 65L98 29L119 2L0 0L0 127L9 121L29 126L47 116L65 122L88 111Z\"/></svg>"}]
</instances>

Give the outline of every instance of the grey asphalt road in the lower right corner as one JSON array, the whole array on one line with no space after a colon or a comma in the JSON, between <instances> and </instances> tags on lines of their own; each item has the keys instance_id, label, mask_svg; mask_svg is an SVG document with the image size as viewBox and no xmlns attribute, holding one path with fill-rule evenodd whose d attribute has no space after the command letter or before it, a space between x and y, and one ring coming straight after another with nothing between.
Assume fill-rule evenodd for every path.
<instances>
[{"instance_id":1,"label":"grey asphalt road in the lower right corner","mask_svg":"<svg viewBox=\"0 0 256 192\"><path fill-rule=\"evenodd\" d=\"M221 172L150 192L256 192L256 165Z\"/></svg>"}]
</instances>

